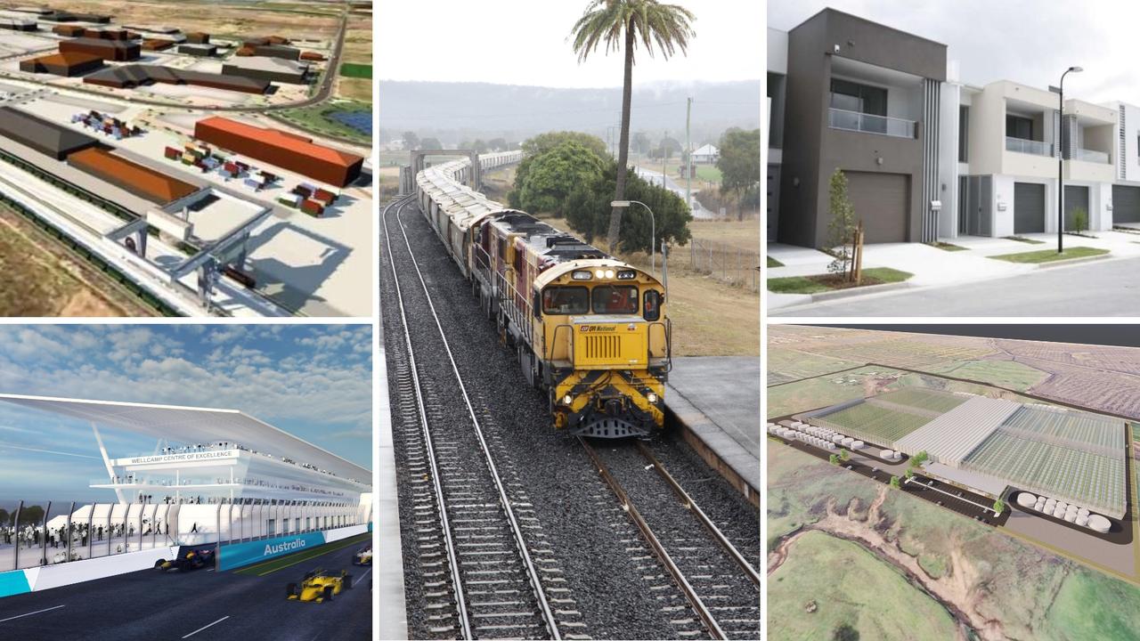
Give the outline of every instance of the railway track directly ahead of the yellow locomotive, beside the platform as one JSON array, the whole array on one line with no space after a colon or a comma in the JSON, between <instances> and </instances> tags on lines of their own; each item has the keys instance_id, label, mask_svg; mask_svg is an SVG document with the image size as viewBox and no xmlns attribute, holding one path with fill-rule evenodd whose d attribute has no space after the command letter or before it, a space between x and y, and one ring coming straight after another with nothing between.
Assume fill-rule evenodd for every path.
<instances>
[{"instance_id":1,"label":"railway track directly ahead of the yellow locomotive, beside the platform","mask_svg":"<svg viewBox=\"0 0 1140 641\"><path fill-rule=\"evenodd\" d=\"M758 639L759 573L650 448L606 444L604 452L578 440L698 617L686 619L675 607L671 623L678 630L699 623L712 639Z\"/></svg>"}]
</instances>

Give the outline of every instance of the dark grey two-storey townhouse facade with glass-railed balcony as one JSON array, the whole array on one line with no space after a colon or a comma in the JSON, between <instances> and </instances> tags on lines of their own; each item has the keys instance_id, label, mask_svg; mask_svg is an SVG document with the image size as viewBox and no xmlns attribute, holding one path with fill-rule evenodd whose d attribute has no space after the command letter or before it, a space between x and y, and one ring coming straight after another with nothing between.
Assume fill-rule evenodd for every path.
<instances>
[{"instance_id":1,"label":"dark grey two-storey townhouse facade with glass-railed balcony","mask_svg":"<svg viewBox=\"0 0 1140 641\"><path fill-rule=\"evenodd\" d=\"M905 82L894 81L903 82L899 89L883 78ZM946 46L931 40L833 9L791 30L776 240L826 244L829 182L841 169L866 242L935 241L931 201L938 198L938 97L945 80ZM833 89L846 92L841 100ZM891 91L911 96L910 106L890 107L910 109L906 121L883 117L901 99ZM833 109L837 104L846 108ZM886 135L888 127L893 135Z\"/></svg>"}]
</instances>

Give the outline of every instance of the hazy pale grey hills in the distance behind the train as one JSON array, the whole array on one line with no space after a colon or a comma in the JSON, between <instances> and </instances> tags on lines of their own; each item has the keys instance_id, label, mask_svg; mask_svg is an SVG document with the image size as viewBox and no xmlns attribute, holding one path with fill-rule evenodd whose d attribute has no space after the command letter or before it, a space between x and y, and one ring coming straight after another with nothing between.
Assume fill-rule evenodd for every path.
<instances>
[{"instance_id":1,"label":"hazy pale grey hills in the distance behind the train","mask_svg":"<svg viewBox=\"0 0 1140 641\"><path fill-rule=\"evenodd\" d=\"M650 83L634 87L630 129L683 139L685 99L693 97L694 147L728 127L756 129L760 81ZM457 144L470 138L521 140L557 129L606 138L621 116L621 88L555 89L487 82L380 81L381 141L416 131Z\"/></svg>"}]
</instances>

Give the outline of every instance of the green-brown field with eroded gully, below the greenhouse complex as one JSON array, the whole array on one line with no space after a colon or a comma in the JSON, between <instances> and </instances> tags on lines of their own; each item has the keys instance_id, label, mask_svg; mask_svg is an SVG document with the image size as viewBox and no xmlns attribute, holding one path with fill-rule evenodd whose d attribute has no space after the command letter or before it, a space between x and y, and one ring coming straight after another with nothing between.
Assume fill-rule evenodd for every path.
<instances>
[{"instance_id":1,"label":"green-brown field with eroded gully, below the greenhouse complex","mask_svg":"<svg viewBox=\"0 0 1140 641\"><path fill-rule=\"evenodd\" d=\"M844 584L876 578L882 573L905 573L912 585L958 612L977 638L1034 639L1076 641L1083 639L1127 640L1140 636L1140 587L1089 569L1073 560L1058 557L1035 545L979 525L923 500L891 490L865 477L830 465L790 447L768 443L768 565L769 565L769 638L831 639L834 620L805 611L808 600L819 605L824 598L805 595L789 586L817 590L819 594L841 597ZM812 558L845 559L846 563L801 563L800 583L777 582L783 570L771 571L779 562L779 544L784 535L803 529L815 538L807 550ZM816 536L822 534L822 536ZM783 563L797 562L797 545L807 539L800 535L787 553ZM864 558L852 554L854 539ZM871 552L866 552L870 550ZM806 558L806 555L805 555ZM858 571L864 561L876 562L873 574ZM902 575L901 575L902 576ZM904 593L905 594L905 593ZM938 603L922 591L913 595L926 599L926 611ZM881 618L905 619L906 611L885 605L921 603L898 595L869 603L865 609L869 627L856 631L862 639L878 639L880 628L872 627ZM855 599L855 602L864 602ZM817 612L840 611L836 609ZM789 619L797 619L791 622ZM777 634L777 627L783 633ZM862 619L860 619L862 620ZM800 632L799 627L817 624ZM854 625L854 624L853 624ZM911 638L914 638L913 635ZM959 639L922 634L922 639Z\"/></svg>"}]
</instances>

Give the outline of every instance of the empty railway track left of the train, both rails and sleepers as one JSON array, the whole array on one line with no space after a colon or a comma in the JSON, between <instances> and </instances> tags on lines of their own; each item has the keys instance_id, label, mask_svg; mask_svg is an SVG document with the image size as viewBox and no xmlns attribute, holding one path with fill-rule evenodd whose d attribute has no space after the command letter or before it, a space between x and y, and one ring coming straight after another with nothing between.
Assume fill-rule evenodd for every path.
<instances>
[{"instance_id":1,"label":"empty railway track left of the train, both rails and sleepers","mask_svg":"<svg viewBox=\"0 0 1140 641\"><path fill-rule=\"evenodd\" d=\"M526 516L526 496L508 488L510 473L496 465L400 220L414 204L412 197L393 201L381 217L399 330L388 326L404 339L390 349L390 376L414 474L422 632L439 639L562 639L554 599L544 589L547 573L557 570L528 544L523 530L537 526ZM402 246L392 243L390 220Z\"/></svg>"}]
</instances>

